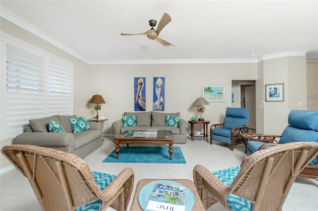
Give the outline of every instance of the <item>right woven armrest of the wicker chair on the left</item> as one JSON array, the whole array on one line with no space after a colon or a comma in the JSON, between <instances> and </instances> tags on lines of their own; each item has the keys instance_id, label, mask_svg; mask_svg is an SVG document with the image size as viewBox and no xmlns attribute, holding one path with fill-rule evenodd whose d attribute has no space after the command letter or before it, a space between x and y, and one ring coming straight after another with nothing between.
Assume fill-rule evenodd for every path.
<instances>
[{"instance_id":1,"label":"right woven armrest of the wicker chair on the left","mask_svg":"<svg viewBox=\"0 0 318 211\"><path fill-rule=\"evenodd\" d=\"M101 191L102 200L117 197L122 188L125 189L125 207L127 208L134 185L134 171L132 168L124 168L109 185Z\"/></svg>"}]
</instances>

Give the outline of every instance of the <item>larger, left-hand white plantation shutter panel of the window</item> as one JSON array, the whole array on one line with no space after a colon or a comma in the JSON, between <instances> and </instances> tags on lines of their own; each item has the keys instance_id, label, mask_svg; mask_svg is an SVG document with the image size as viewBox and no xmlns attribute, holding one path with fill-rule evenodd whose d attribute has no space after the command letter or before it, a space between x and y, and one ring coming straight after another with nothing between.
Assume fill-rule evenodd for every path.
<instances>
[{"instance_id":1,"label":"larger, left-hand white plantation shutter panel of the window","mask_svg":"<svg viewBox=\"0 0 318 211\"><path fill-rule=\"evenodd\" d=\"M3 139L23 132L30 118L44 116L45 57L6 45Z\"/></svg>"}]
</instances>

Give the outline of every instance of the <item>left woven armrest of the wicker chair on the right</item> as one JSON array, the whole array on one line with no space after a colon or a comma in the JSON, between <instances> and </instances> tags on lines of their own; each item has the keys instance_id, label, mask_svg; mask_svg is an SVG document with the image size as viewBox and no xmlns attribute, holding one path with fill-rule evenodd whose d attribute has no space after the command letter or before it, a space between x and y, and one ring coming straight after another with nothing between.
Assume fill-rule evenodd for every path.
<instances>
[{"instance_id":1,"label":"left woven armrest of the wicker chair on the right","mask_svg":"<svg viewBox=\"0 0 318 211\"><path fill-rule=\"evenodd\" d=\"M224 200L223 203L226 204L226 197L224 195L230 195L230 188L222 183L214 174L209 171L206 167L202 165L196 165L193 168L193 180L194 184L197 188L197 191L200 195L200 198L203 202L203 205L206 209L215 204L216 200L208 200L210 202L204 201L206 200L205 193L203 190L206 190L209 193L213 193L214 196L217 196L219 199ZM210 194L208 194L210 195Z\"/></svg>"}]
</instances>

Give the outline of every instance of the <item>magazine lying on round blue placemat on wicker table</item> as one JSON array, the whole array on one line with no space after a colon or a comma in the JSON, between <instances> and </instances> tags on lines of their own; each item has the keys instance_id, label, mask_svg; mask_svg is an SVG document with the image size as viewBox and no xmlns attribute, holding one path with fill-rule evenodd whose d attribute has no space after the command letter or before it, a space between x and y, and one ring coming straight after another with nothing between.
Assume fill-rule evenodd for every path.
<instances>
[{"instance_id":1,"label":"magazine lying on round blue placemat on wicker table","mask_svg":"<svg viewBox=\"0 0 318 211\"><path fill-rule=\"evenodd\" d=\"M146 209L185 211L185 187L156 183Z\"/></svg>"}]
</instances>

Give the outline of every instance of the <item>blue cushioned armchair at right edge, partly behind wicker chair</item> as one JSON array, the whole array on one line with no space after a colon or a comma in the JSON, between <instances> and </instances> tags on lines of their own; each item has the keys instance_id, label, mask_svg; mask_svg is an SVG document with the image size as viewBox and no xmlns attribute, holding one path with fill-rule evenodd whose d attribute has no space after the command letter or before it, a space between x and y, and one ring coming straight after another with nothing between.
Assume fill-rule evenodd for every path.
<instances>
[{"instance_id":1,"label":"blue cushioned armchair at right edge, partly behind wicker chair","mask_svg":"<svg viewBox=\"0 0 318 211\"><path fill-rule=\"evenodd\" d=\"M277 144L318 142L318 111L292 110L288 116L288 124L281 136L260 134L250 136L247 139L246 154L251 155L258 150L270 148ZM257 136L272 137L274 143L265 144L264 142L250 141L251 139L257 139ZM280 138L279 141L276 138ZM298 176L318 180L318 156Z\"/></svg>"}]
</instances>

